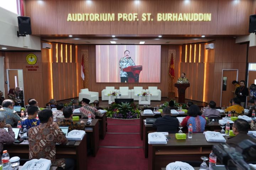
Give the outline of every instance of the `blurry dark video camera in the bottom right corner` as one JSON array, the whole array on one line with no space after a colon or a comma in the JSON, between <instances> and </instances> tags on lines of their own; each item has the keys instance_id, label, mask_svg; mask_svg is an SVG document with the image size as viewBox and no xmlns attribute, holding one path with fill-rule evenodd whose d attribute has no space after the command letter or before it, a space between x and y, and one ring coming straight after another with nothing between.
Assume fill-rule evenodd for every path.
<instances>
[{"instance_id":1,"label":"blurry dark video camera in the bottom right corner","mask_svg":"<svg viewBox=\"0 0 256 170\"><path fill-rule=\"evenodd\" d=\"M244 140L238 147L230 147L225 143L213 146L213 153L218 160L225 165L226 170L256 170L246 163L246 160L256 161L256 143ZM218 166L211 167L209 170L218 170Z\"/></svg>"}]
</instances>

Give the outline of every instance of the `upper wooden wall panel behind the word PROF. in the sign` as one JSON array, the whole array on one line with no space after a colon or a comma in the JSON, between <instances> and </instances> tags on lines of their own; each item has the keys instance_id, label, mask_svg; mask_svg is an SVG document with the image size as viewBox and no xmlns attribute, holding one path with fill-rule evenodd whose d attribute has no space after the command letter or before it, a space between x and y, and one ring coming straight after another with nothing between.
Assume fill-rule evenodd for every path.
<instances>
[{"instance_id":1,"label":"upper wooden wall panel behind the word PROF. in the sign","mask_svg":"<svg viewBox=\"0 0 256 170\"><path fill-rule=\"evenodd\" d=\"M111 13L138 13L138 3L129 0L111 0ZM112 21L110 34L137 34L137 21Z\"/></svg>"}]
</instances>

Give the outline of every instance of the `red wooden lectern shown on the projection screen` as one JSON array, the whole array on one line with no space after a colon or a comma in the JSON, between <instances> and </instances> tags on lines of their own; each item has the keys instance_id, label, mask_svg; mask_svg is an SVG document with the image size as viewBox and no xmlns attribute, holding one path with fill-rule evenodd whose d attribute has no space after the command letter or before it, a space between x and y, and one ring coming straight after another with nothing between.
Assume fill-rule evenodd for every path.
<instances>
[{"instance_id":1,"label":"red wooden lectern shown on the projection screen","mask_svg":"<svg viewBox=\"0 0 256 170\"><path fill-rule=\"evenodd\" d=\"M123 71L128 74L128 83L138 83L139 73L142 71L142 66L129 66L123 68Z\"/></svg>"}]
</instances>

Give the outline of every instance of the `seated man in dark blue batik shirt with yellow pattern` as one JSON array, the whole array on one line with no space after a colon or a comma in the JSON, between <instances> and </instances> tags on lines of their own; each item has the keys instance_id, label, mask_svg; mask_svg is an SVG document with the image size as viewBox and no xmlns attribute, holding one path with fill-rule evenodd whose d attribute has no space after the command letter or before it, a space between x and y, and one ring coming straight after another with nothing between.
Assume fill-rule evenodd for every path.
<instances>
[{"instance_id":1,"label":"seated man in dark blue batik shirt with yellow pattern","mask_svg":"<svg viewBox=\"0 0 256 170\"><path fill-rule=\"evenodd\" d=\"M30 129L34 126L38 126L40 124L40 121L36 119L37 111L38 111L38 107L36 107L34 105L28 106L28 108L27 108L28 118L21 122L21 125L23 128L28 130L28 129ZM26 126L26 127L24 127L24 126Z\"/></svg>"}]
</instances>

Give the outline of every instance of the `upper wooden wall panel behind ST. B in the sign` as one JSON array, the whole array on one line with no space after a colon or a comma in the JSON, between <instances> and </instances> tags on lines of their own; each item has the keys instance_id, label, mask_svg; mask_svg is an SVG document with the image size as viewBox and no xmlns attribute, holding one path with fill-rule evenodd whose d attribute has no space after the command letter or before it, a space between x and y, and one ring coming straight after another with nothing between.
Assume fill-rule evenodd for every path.
<instances>
[{"instance_id":1,"label":"upper wooden wall panel behind ST. B in the sign","mask_svg":"<svg viewBox=\"0 0 256 170\"><path fill-rule=\"evenodd\" d=\"M138 4L138 16L142 13L151 13L154 21L138 21L138 34L164 34L164 21L157 21L157 13L162 13L164 0L143 0ZM148 19L148 18L147 18Z\"/></svg>"}]
</instances>

